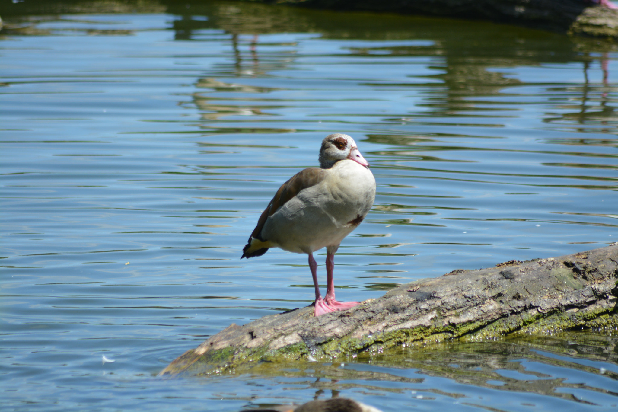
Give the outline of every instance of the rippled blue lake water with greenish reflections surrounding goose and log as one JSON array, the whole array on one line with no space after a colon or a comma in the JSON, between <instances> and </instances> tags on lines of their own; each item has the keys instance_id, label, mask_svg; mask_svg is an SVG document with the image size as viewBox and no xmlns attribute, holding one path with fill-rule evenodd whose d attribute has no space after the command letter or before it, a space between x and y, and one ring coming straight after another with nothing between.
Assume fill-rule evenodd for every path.
<instances>
[{"instance_id":1,"label":"rippled blue lake water with greenish reflections surrounding goose and log","mask_svg":"<svg viewBox=\"0 0 618 412\"><path fill-rule=\"evenodd\" d=\"M340 300L618 240L614 44L242 2L7 3L2 410L337 394L385 412L616 410L614 330L156 377L231 322L313 300L307 256L239 258L329 133L355 138L378 183L335 259Z\"/></svg>"}]
</instances>

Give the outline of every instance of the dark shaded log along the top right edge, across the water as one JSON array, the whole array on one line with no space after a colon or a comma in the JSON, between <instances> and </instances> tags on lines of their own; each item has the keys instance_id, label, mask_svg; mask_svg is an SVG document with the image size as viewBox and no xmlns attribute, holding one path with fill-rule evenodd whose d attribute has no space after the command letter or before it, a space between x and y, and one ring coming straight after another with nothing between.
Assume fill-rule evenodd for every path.
<instances>
[{"instance_id":1,"label":"dark shaded log along the top right edge, across the water","mask_svg":"<svg viewBox=\"0 0 618 412\"><path fill-rule=\"evenodd\" d=\"M575 35L618 38L618 11L586 0L250 0L334 10L491 20Z\"/></svg>"}]
</instances>

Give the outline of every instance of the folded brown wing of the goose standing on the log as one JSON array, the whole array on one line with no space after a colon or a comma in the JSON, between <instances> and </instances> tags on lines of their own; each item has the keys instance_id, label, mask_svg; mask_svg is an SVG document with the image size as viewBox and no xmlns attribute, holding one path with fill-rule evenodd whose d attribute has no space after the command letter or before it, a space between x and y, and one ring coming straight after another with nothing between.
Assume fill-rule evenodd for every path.
<instances>
[{"instance_id":1,"label":"folded brown wing of the goose standing on the log","mask_svg":"<svg viewBox=\"0 0 618 412\"><path fill-rule=\"evenodd\" d=\"M264 242L266 239L261 237L261 232L266 223L266 219L268 216L271 216L274 212L279 210L281 206L287 203L291 198L298 195L303 189L306 189L311 186L315 186L320 183L326 177L328 172L324 169L320 169L320 167L308 167L305 170L301 170L294 176L290 177L286 183L283 183L277 193L275 193L273 200L268 203L266 209L262 212L260 219L258 219L258 224L253 229L251 236L249 237L249 241L247 245L243 248L242 258L253 258L253 256L261 256L266 253L268 248L261 248L258 250L250 250L251 240L259 239L261 242Z\"/></svg>"}]
</instances>

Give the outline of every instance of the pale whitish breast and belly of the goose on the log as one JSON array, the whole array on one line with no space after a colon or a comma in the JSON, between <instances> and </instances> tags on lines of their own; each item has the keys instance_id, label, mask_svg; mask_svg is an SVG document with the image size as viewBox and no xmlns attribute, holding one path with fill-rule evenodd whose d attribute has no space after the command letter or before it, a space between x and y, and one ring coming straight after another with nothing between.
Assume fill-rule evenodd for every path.
<instances>
[{"instance_id":1,"label":"pale whitish breast and belly of the goose on the log","mask_svg":"<svg viewBox=\"0 0 618 412\"><path fill-rule=\"evenodd\" d=\"M328 169L326 179L301 190L269 216L262 236L279 248L313 253L339 243L366 216L376 195L371 171L342 160Z\"/></svg>"}]
</instances>

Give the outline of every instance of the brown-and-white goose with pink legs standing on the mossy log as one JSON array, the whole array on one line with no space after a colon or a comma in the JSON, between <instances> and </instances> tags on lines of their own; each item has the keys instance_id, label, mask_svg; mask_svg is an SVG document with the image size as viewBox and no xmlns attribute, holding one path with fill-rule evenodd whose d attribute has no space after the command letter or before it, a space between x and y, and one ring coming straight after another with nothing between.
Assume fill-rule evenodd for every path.
<instances>
[{"instance_id":1,"label":"brown-and-white goose with pink legs standing on the mossy log","mask_svg":"<svg viewBox=\"0 0 618 412\"><path fill-rule=\"evenodd\" d=\"M320 167L301 170L277 190L243 248L253 258L269 248L307 253L315 287L315 316L349 309L338 302L332 281L339 243L363 221L376 196L376 180L354 140L335 133L322 141ZM313 252L326 247L326 297L320 295Z\"/></svg>"}]
</instances>

